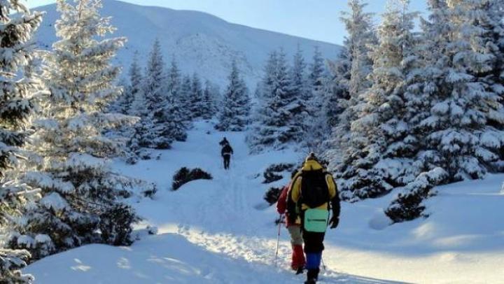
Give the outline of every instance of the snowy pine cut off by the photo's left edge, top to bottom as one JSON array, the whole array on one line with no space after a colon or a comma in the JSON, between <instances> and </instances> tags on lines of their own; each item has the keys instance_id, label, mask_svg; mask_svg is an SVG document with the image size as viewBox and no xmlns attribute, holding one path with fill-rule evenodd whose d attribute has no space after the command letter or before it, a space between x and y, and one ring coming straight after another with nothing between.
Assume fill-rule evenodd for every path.
<instances>
[{"instance_id":1,"label":"snowy pine cut off by the photo's left edge, top to bottom","mask_svg":"<svg viewBox=\"0 0 504 284\"><path fill-rule=\"evenodd\" d=\"M18 13L10 17L11 13ZM20 269L31 255L26 250L3 248L12 221L38 192L18 182L20 148L27 138L27 121L38 96L39 82L27 76L34 58L32 37L41 24L41 13L31 13L17 0L0 3L0 282L32 283Z\"/></svg>"}]
</instances>

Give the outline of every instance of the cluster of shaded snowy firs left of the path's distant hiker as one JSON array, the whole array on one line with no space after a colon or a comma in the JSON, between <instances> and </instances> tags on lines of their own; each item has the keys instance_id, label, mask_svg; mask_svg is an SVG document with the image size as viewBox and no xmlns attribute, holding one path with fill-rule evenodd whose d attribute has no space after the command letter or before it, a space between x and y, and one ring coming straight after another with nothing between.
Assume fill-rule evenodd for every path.
<instances>
[{"instance_id":1,"label":"cluster of shaded snowy firs left of the path's distant hiker","mask_svg":"<svg viewBox=\"0 0 504 284\"><path fill-rule=\"evenodd\" d=\"M197 73L183 76L175 58L167 69L158 40L145 65L143 71L135 52L129 81L123 82L124 93L109 109L139 118L133 126L116 132L126 139L130 164L150 158L145 148L169 149L174 141L186 141L192 122L214 118L221 101L218 86L209 80L203 85Z\"/></svg>"}]
</instances>

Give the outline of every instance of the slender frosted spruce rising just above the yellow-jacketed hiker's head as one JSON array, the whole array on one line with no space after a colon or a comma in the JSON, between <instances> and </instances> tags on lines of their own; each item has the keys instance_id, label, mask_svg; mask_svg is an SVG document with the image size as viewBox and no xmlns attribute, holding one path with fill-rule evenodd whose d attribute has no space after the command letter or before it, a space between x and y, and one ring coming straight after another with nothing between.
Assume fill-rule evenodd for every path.
<instances>
[{"instance_id":1,"label":"slender frosted spruce rising just above the yellow-jacketed hiker's head","mask_svg":"<svg viewBox=\"0 0 504 284\"><path fill-rule=\"evenodd\" d=\"M338 125L332 129L332 135L328 140L325 156L330 162L330 169L337 167L345 152L353 151L349 149L351 141L362 141L362 137L352 136L351 123L356 120L364 104L363 93L371 85L367 76L372 69L372 60L368 54L370 46L376 44L372 27L373 14L364 12L367 4L363 3L363 0L349 0L349 6L351 13L343 13L341 18L349 34L344 42L351 62L349 100L341 102L344 111L339 115Z\"/></svg>"}]
</instances>

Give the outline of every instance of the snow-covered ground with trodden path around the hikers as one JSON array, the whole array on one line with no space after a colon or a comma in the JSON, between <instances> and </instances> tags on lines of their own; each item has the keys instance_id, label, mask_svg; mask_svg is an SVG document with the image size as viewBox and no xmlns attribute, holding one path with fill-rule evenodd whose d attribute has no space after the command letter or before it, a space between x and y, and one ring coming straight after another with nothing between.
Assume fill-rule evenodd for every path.
<instances>
[{"instance_id":1,"label":"snow-covered ground with trodden path around the hikers","mask_svg":"<svg viewBox=\"0 0 504 284\"><path fill-rule=\"evenodd\" d=\"M235 148L232 169L221 166L218 141ZM158 234L129 248L84 246L31 264L37 283L302 283L288 270L290 243L281 232L274 266L277 214L265 206L262 173L269 164L299 162L292 151L248 155L243 133L214 132L200 122L186 143L160 159L114 166L158 184L153 199L132 200L144 225ZM214 180L170 190L181 166L198 166ZM388 226L393 196L343 204L328 232L321 283L504 283L504 175L438 187L430 218ZM283 180L272 185L281 185Z\"/></svg>"}]
</instances>

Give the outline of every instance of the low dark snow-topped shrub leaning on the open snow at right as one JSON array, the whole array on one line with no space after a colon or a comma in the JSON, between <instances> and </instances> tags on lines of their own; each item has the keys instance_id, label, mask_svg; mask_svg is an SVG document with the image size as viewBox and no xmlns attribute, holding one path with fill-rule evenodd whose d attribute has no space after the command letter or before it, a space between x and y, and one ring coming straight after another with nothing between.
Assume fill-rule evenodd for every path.
<instances>
[{"instance_id":1,"label":"low dark snow-topped shrub leaning on the open snow at right","mask_svg":"<svg viewBox=\"0 0 504 284\"><path fill-rule=\"evenodd\" d=\"M433 194L432 188L446 180L447 176L448 173L442 168L421 173L405 186L403 192L386 208L385 214L393 222L404 222L423 216L423 201Z\"/></svg>"}]
</instances>

